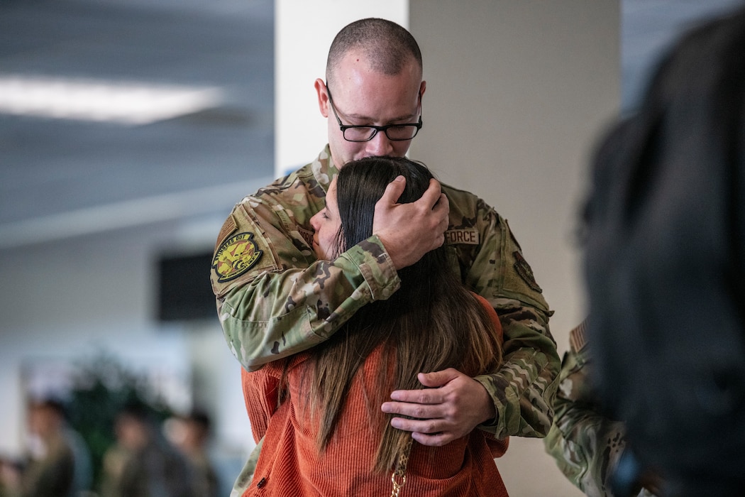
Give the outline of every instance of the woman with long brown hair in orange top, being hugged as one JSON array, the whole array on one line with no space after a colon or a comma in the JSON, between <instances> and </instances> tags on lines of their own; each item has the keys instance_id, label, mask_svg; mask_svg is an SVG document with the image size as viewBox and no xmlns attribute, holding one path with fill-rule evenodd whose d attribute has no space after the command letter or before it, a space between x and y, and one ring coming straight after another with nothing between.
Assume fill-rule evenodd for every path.
<instances>
[{"instance_id":1,"label":"woman with long brown hair in orange top, being hugged","mask_svg":"<svg viewBox=\"0 0 745 497\"><path fill-rule=\"evenodd\" d=\"M396 177L399 203L417 200L432 174L400 157L349 162L311 219L320 259L373 234L375 203ZM383 256L383 254L381 254ZM358 310L323 344L244 372L261 455L244 496L506 496L493 458L507 449L481 430L422 446L390 424L393 390L422 388L417 374L448 367L477 376L501 362L501 326L489 303L453 273L446 247L399 270L401 288Z\"/></svg>"}]
</instances>

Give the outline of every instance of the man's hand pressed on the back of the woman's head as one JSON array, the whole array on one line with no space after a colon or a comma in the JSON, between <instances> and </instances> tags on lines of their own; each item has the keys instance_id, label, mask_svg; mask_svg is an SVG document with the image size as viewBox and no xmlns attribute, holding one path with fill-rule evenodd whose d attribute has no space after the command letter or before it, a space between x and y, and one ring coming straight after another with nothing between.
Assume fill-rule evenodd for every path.
<instances>
[{"instance_id":1,"label":"man's hand pressed on the back of the woman's head","mask_svg":"<svg viewBox=\"0 0 745 497\"><path fill-rule=\"evenodd\" d=\"M430 180L422 198L412 203L396 203L406 186L404 177L396 177L375 204L373 235L383 242L398 270L406 268L445 242L450 204L440 190L440 182Z\"/></svg>"}]
</instances>

